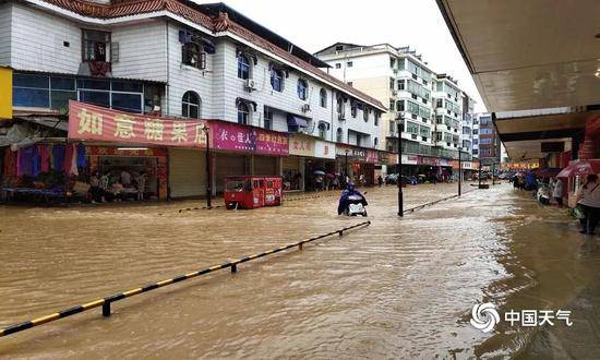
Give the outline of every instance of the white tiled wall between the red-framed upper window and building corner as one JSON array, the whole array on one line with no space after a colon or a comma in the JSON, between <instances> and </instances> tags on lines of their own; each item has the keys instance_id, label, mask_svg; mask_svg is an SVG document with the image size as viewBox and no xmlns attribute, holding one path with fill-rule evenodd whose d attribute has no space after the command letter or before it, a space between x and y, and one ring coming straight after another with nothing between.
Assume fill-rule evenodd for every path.
<instances>
[{"instance_id":1,"label":"white tiled wall between the red-framed upper window and building corner","mask_svg":"<svg viewBox=\"0 0 600 360\"><path fill-rule=\"evenodd\" d=\"M115 27L111 41L119 44L119 59L112 61L112 76L167 81L167 22L153 20Z\"/></svg>"}]
</instances>

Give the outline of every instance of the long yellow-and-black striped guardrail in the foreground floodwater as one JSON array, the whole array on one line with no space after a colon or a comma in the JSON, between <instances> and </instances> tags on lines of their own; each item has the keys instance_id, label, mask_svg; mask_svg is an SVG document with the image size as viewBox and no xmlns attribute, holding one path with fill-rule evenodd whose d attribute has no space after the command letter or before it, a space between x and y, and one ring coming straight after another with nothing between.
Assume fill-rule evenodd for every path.
<instances>
[{"instance_id":1,"label":"long yellow-and-black striped guardrail in the foreground floodwater","mask_svg":"<svg viewBox=\"0 0 600 360\"><path fill-rule=\"evenodd\" d=\"M196 272L191 272L191 273L188 273L188 274L184 274L184 275L176 276L173 278L169 278L169 279L166 279L166 280L163 280L163 281L158 281L158 283L152 283L152 284L148 284L148 285L143 286L143 287L139 287L139 288L131 289L131 290L123 291L123 292L118 292L118 293L111 295L111 296L106 297L106 298L101 298L101 299L89 301L89 302L86 302L86 303L83 303L83 304L80 304L80 305L71 307L71 308L64 309L64 310L59 311L59 312L55 312L55 313L46 315L46 316L37 317L37 319L34 319L34 320L29 320L29 321L25 321L25 322L22 322L22 323L19 323L19 324L11 325L9 327L4 327L4 328L0 329L0 337L11 335L11 334L14 334L14 333L19 333L19 332L25 331L27 328L39 326L41 324L53 322L53 321L64 319L64 317L68 317L68 316L74 315L74 314L79 314L81 312L84 312L84 311L87 311L87 310L91 310L91 309L94 309L94 308L98 308L98 307L103 308L103 316L110 316L110 305L113 302L117 302L117 301L120 301L120 300L123 300L123 299L127 299L127 298L131 298L131 297L140 295L140 293L148 292L148 291L165 287L167 285L181 283L183 280L188 280L188 279L191 279L191 278L194 278L194 277L197 277L197 276L206 275L206 274L209 274L209 273L213 273L213 272L216 272L216 271L219 271L219 269L224 269L224 268L230 268L231 273L237 273L239 264L242 264L242 263L255 260L255 259L264 257L264 256L267 256L267 255L276 254L278 252L286 251L286 250L289 250L289 249L292 249L292 248L296 248L296 247L298 247L299 250L302 250L302 245L304 243L309 243L309 242L312 242L312 241L315 241L315 240L319 240L319 239L327 238L327 237L331 237L331 236L336 235L336 233L341 237L345 231L348 231L348 230L351 230L351 229L355 229L355 228L358 228L358 227L362 227L362 226L369 226L369 225L371 225L371 221L363 221L363 223L359 223L359 224L356 224L356 225L352 225L352 226L347 226L345 228L341 228L341 229L338 229L338 230L335 230L335 231L331 231L331 232L323 233L323 235L320 235L320 236L316 236L316 237L313 237L313 238L310 238L310 239L301 240L301 241L290 243L290 244L287 244L287 245L284 245L284 247L272 249L269 251L265 251L265 252L261 252L261 253L257 253L257 254L254 254L254 255L249 255L249 256L244 256L244 257L241 257L241 259L238 259L238 260L225 262L225 263L217 264L217 265L214 265L214 266L211 266L211 267L206 267L206 268L203 268L203 269L200 269L200 271L196 271Z\"/></svg>"}]
</instances>

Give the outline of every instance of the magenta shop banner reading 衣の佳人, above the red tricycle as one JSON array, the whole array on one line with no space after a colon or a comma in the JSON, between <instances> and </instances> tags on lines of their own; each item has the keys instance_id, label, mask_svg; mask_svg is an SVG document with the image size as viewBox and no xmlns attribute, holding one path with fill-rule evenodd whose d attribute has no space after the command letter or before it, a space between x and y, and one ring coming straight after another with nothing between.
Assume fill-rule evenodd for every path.
<instances>
[{"instance_id":1,"label":"magenta shop banner reading \u8863\u306e\u4f73\u4eba, above the red tricycle","mask_svg":"<svg viewBox=\"0 0 600 360\"><path fill-rule=\"evenodd\" d=\"M289 154L287 134L225 121L211 121L209 127L215 148L266 155Z\"/></svg>"}]
</instances>

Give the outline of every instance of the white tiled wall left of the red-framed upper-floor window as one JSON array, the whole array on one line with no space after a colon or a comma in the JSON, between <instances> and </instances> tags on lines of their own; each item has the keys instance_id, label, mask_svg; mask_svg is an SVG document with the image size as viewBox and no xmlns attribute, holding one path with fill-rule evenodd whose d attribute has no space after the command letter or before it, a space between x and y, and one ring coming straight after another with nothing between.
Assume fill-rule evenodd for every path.
<instances>
[{"instance_id":1,"label":"white tiled wall left of the red-framed upper-floor window","mask_svg":"<svg viewBox=\"0 0 600 360\"><path fill-rule=\"evenodd\" d=\"M11 35L11 65L14 69L77 72L82 60L82 32L74 22L14 3ZM70 46L63 46L63 41L69 41Z\"/></svg>"}]
</instances>

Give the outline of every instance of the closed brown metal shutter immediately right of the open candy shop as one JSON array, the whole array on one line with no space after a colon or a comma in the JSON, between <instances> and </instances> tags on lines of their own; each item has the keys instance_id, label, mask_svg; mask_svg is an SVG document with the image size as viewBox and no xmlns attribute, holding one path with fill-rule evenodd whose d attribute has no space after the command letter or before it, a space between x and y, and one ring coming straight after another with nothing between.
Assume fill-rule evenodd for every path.
<instances>
[{"instance_id":1,"label":"closed brown metal shutter immediately right of the open candy shop","mask_svg":"<svg viewBox=\"0 0 600 360\"><path fill-rule=\"evenodd\" d=\"M205 153L193 149L169 149L169 185L173 199L205 195Z\"/></svg>"}]
</instances>

